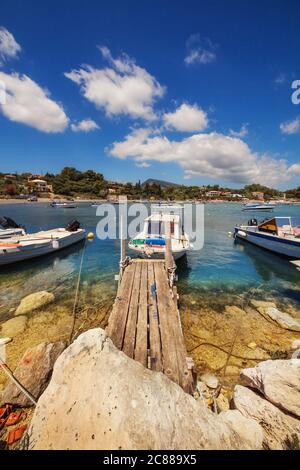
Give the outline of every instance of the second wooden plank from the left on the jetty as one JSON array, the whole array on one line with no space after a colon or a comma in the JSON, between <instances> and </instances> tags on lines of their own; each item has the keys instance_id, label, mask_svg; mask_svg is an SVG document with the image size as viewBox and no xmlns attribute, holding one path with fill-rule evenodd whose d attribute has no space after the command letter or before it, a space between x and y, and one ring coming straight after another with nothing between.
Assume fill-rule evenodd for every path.
<instances>
[{"instance_id":1,"label":"second wooden plank from the left on the jetty","mask_svg":"<svg viewBox=\"0 0 300 470\"><path fill-rule=\"evenodd\" d=\"M141 273L142 273L142 264L136 264L133 288L131 293L130 305L128 310L128 317L125 329L124 343L123 343L123 352L127 356L134 357L134 348L135 348L135 335L136 335L136 324L140 300L140 285L141 285Z\"/></svg>"}]
</instances>

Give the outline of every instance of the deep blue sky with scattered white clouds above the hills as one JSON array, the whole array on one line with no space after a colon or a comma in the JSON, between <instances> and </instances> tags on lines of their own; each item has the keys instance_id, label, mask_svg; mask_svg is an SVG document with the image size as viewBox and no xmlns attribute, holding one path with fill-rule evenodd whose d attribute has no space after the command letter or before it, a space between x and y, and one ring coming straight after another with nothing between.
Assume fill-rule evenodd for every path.
<instances>
[{"instance_id":1,"label":"deep blue sky with scattered white clouds above the hills","mask_svg":"<svg viewBox=\"0 0 300 470\"><path fill-rule=\"evenodd\" d=\"M299 186L299 14L291 0L2 0L0 171Z\"/></svg>"}]
</instances>

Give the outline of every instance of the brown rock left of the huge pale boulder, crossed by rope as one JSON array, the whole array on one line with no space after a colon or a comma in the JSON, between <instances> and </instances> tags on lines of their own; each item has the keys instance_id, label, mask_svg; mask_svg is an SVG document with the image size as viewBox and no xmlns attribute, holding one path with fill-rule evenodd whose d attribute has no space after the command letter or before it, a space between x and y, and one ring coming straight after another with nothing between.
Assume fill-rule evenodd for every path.
<instances>
[{"instance_id":1,"label":"brown rock left of the huge pale boulder, crossed by rope","mask_svg":"<svg viewBox=\"0 0 300 470\"><path fill-rule=\"evenodd\" d=\"M66 344L62 341L41 343L27 349L22 357L14 376L35 398L39 398L47 387L54 363L65 347ZM10 381L3 390L1 403L12 403L18 406L32 405L29 398Z\"/></svg>"}]
</instances>

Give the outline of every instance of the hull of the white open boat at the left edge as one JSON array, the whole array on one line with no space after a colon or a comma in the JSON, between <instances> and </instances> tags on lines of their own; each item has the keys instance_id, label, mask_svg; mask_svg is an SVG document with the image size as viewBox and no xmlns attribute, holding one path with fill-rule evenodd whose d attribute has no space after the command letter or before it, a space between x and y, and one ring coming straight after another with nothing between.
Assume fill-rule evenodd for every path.
<instances>
[{"instance_id":1,"label":"hull of the white open boat at the left edge","mask_svg":"<svg viewBox=\"0 0 300 470\"><path fill-rule=\"evenodd\" d=\"M59 240L53 239L45 243L37 242L35 245L29 245L27 247L22 246L22 238L20 238L19 247L16 244L15 247L9 248L5 251L5 248L1 248L0 245L0 266L51 254L78 243L84 238L85 230L83 229L80 229L77 232L70 232L69 236L60 238ZM14 239L10 239L9 242L10 245L14 245Z\"/></svg>"}]
</instances>

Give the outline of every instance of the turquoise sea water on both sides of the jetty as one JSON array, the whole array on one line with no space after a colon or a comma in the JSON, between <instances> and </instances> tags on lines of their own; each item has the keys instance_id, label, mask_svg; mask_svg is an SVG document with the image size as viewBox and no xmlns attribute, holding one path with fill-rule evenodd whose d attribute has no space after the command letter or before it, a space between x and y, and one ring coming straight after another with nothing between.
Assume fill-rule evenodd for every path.
<instances>
[{"instance_id":1,"label":"turquoise sea water on both sides of the jetty","mask_svg":"<svg viewBox=\"0 0 300 470\"><path fill-rule=\"evenodd\" d=\"M299 217L300 206L277 206L274 214ZM64 227L76 218L87 232L95 233L99 221L96 208L86 203L76 209L53 209L48 204L1 204L0 216L4 215L24 224L28 232ZM179 293L216 303L222 302L223 296L234 297L256 288L262 297L271 295L300 306L299 271L287 260L246 243L235 243L228 235L236 223L253 216L256 215L243 213L239 204L205 205L204 248L190 252L185 261L178 263ZM258 218L267 216L258 214ZM9 318L9 311L32 292L57 290L62 298L73 298L82 249L83 244L79 244L51 256L0 267L0 321ZM102 292L113 297L119 255L117 240L95 238L86 243L82 295L99 286L97 295ZM89 302L94 300L87 298Z\"/></svg>"}]
</instances>

